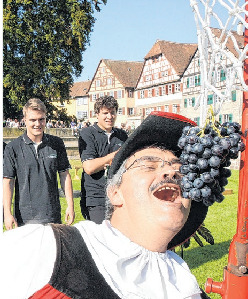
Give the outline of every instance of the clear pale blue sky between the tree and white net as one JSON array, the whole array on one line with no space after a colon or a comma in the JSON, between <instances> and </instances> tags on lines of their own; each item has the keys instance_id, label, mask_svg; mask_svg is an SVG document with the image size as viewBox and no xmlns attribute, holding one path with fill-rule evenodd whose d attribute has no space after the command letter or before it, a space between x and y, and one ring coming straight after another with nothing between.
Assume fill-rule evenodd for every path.
<instances>
[{"instance_id":1,"label":"clear pale blue sky between the tree and white net","mask_svg":"<svg viewBox=\"0 0 248 299\"><path fill-rule=\"evenodd\" d=\"M190 0L108 0L101 8L75 82L91 80L102 58L143 61L157 39L197 43Z\"/></svg>"}]
</instances>

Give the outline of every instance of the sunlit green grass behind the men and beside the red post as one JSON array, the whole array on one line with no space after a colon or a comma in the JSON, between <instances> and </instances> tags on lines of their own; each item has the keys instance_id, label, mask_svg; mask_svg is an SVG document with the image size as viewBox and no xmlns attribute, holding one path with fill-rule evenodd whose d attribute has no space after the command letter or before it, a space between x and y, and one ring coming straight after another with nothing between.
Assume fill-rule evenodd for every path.
<instances>
[{"instance_id":1,"label":"sunlit green grass behind the men and beside the red post","mask_svg":"<svg viewBox=\"0 0 248 299\"><path fill-rule=\"evenodd\" d=\"M79 160L71 160L71 166L81 166ZM75 170L70 170L73 179L73 189L80 190L80 180L75 180ZM81 177L82 169L78 171ZM195 275L199 285L204 289L204 284L208 277L214 281L221 282L223 280L223 268L227 265L229 245L232 237L236 232L237 221L237 202L238 202L238 179L239 171L232 170L232 176L228 179L227 189L232 189L233 194L226 195L221 204L215 203L209 208L205 226L210 230L214 237L215 244L209 245L204 239L204 247L200 247L192 238L189 248L184 249L184 260L189 265L192 273ZM75 221L77 223L83 220L80 210L80 198L74 198L75 203ZM64 221L66 200L61 198L62 222ZM180 255L180 249L176 248L176 252ZM218 294L209 294L211 299L220 299Z\"/></svg>"}]
</instances>

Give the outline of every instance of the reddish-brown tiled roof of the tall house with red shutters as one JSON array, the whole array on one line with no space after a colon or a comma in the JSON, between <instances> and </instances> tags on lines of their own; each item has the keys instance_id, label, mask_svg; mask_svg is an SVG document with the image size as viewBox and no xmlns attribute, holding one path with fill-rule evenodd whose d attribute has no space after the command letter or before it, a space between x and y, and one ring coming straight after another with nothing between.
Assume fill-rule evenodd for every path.
<instances>
[{"instance_id":1,"label":"reddish-brown tiled roof of the tall house with red shutters","mask_svg":"<svg viewBox=\"0 0 248 299\"><path fill-rule=\"evenodd\" d=\"M157 40L145 59L164 54L179 76L183 75L197 50L197 44L175 43Z\"/></svg>"}]
</instances>

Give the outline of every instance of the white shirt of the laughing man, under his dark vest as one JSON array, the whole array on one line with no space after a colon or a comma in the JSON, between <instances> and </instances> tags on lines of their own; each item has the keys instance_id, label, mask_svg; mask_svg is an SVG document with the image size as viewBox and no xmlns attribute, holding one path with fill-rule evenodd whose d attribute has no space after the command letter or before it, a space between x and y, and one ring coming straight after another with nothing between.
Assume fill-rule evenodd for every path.
<instances>
[{"instance_id":1,"label":"white shirt of the laughing man, under his dark vest","mask_svg":"<svg viewBox=\"0 0 248 299\"><path fill-rule=\"evenodd\" d=\"M131 242L109 221L75 224L106 282L125 299L200 299L187 264L175 253L149 251ZM4 233L1 297L29 298L46 285L56 259L50 226L29 224Z\"/></svg>"}]
</instances>

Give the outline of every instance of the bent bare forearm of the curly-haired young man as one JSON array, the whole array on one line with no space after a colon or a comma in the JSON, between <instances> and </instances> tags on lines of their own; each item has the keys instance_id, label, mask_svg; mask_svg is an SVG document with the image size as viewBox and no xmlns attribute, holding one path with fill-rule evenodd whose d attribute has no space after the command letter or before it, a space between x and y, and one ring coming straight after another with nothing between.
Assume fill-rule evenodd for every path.
<instances>
[{"instance_id":1,"label":"bent bare forearm of the curly-haired young man","mask_svg":"<svg viewBox=\"0 0 248 299\"><path fill-rule=\"evenodd\" d=\"M104 157L101 158L95 158L95 159L90 159L90 160L86 160L83 162L83 168L84 171L88 174L91 175L93 173L97 173L103 169L105 169L105 167L107 165L110 165L115 154L118 151L112 152Z\"/></svg>"}]
</instances>

